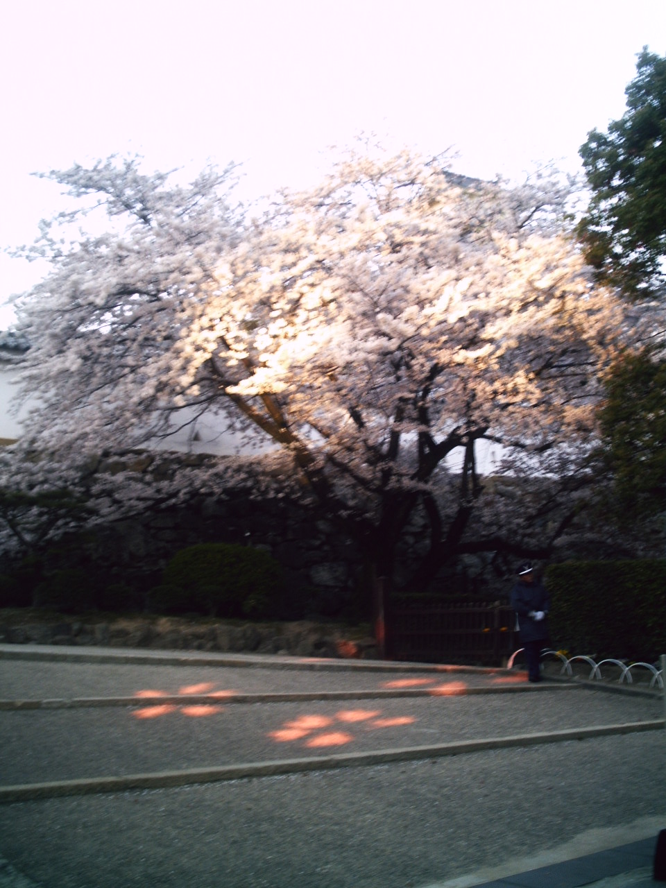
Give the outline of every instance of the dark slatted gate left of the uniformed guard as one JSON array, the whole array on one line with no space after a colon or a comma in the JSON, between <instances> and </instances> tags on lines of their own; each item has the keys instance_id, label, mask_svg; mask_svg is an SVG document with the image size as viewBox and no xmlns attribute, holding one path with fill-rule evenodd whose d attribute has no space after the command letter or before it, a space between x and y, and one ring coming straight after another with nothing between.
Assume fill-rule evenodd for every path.
<instances>
[{"instance_id":1,"label":"dark slatted gate left of the uniformed guard","mask_svg":"<svg viewBox=\"0 0 666 888\"><path fill-rule=\"evenodd\" d=\"M386 653L395 660L499 666L515 650L505 601L398 599L386 607Z\"/></svg>"}]
</instances>

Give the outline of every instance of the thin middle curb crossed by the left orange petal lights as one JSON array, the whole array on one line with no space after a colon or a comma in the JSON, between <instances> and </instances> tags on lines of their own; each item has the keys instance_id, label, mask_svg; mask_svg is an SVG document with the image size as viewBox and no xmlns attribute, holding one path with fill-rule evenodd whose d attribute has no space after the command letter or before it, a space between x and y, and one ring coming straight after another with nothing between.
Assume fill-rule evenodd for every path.
<instances>
[{"instance_id":1,"label":"thin middle curb crossed by the left orange petal lights","mask_svg":"<svg viewBox=\"0 0 666 888\"><path fill-rule=\"evenodd\" d=\"M396 697L465 697L480 694L542 694L548 691L576 690L577 685L541 686L517 685L509 687L395 688L364 691L294 691L266 694L163 694L152 697L74 697L51 700L0 700L0 711L15 710L75 710L105 706L180 706L184 703L220 705L228 703L297 703L337 700L390 700Z\"/></svg>"}]
</instances>

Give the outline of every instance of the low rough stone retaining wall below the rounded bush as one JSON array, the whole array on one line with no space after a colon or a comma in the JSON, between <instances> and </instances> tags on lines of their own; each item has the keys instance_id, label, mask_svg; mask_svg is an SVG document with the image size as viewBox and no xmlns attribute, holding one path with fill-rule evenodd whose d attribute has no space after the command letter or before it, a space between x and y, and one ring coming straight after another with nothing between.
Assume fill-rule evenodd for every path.
<instances>
[{"instance_id":1,"label":"low rough stone retaining wall below the rounded bush","mask_svg":"<svg viewBox=\"0 0 666 888\"><path fill-rule=\"evenodd\" d=\"M377 658L374 638L364 636L361 630L311 621L254 623L63 614L38 619L12 610L0 612L0 643Z\"/></svg>"}]
</instances>

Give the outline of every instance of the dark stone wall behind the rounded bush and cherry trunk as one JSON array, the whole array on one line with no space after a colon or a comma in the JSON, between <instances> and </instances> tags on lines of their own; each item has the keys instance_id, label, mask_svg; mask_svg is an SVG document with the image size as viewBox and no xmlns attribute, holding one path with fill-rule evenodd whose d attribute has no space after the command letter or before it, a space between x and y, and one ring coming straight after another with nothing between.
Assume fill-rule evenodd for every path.
<instances>
[{"instance_id":1,"label":"dark stone wall behind the rounded bush and cherry trunk","mask_svg":"<svg viewBox=\"0 0 666 888\"><path fill-rule=\"evenodd\" d=\"M101 490L102 499L118 503L123 518L72 535L68 549L67 541L58 541L59 552L47 556L46 572L83 568L91 582L94 574L101 577L102 591L105 585L122 584L137 589L136 601L124 609L141 610L149 607L149 591L161 584L163 568L176 551L194 543L240 543L266 549L283 567L289 595L282 617L368 619L371 591L362 540L350 538L314 507L282 491L281 496L260 494L247 476L245 488L231 487L228 479L234 475L225 472L225 465L222 457L138 450L86 457L80 467L83 489L95 489L98 496ZM140 513L130 514L131 503L123 503L128 478L135 494L145 488L146 506ZM170 482L186 491L186 503L155 504L155 488ZM137 500L135 496L133 502ZM396 564L397 587L413 574L423 541L423 528L405 535ZM449 575L420 591L506 594L506 581L489 569L491 556L466 559L464 573L473 582L462 584L464 588L460 576ZM3 572L11 573L11 565L0 564ZM96 596L99 600L99 607L116 607L108 596Z\"/></svg>"}]
</instances>

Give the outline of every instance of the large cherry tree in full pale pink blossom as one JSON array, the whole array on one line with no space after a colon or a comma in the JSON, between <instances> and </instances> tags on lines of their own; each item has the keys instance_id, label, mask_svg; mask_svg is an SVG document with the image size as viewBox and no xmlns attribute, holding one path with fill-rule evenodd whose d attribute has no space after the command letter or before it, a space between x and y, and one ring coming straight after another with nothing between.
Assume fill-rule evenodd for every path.
<instances>
[{"instance_id":1,"label":"large cherry tree in full pale pink blossom","mask_svg":"<svg viewBox=\"0 0 666 888\"><path fill-rule=\"evenodd\" d=\"M360 151L252 216L232 176L52 173L113 225L65 248L44 226L34 248L53 271L20 300L39 399L23 446L139 446L212 413L270 442L261 468L343 523L376 576L409 528L411 583L464 552L547 554L590 480L603 374L653 322L592 284L567 189Z\"/></svg>"}]
</instances>

